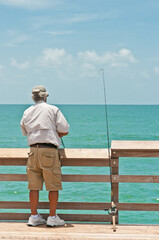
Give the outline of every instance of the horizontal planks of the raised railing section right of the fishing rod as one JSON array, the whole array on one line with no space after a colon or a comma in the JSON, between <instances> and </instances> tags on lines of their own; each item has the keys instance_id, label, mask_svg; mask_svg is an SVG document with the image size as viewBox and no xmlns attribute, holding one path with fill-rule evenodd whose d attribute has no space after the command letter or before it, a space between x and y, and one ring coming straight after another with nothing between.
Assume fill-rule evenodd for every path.
<instances>
[{"instance_id":1,"label":"horizontal planks of the raised railing section right of the fishing rod","mask_svg":"<svg viewBox=\"0 0 159 240\"><path fill-rule=\"evenodd\" d=\"M158 158L159 141L112 141L111 161L120 158ZM122 160L121 160L122 161ZM141 165L142 168L142 165ZM119 175L112 176L112 182L118 183L159 183L159 175ZM120 203L118 211L159 211L158 203Z\"/></svg>"}]
</instances>

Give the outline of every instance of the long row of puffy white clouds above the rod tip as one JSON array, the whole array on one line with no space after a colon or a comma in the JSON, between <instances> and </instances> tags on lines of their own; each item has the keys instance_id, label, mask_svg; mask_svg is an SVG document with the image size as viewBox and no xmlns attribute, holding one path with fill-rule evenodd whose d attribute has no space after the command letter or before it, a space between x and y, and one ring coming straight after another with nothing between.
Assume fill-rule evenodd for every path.
<instances>
[{"instance_id":1,"label":"long row of puffy white clouds above the rod tip","mask_svg":"<svg viewBox=\"0 0 159 240\"><path fill-rule=\"evenodd\" d=\"M40 57L41 63L43 65L56 64L61 65L63 62L81 62L83 65L87 63L89 66L106 64L111 67L128 67L129 64L136 63L137 60L134 58L133 54L128 49L121 49L118 53L107 52L104 55L99 55L95 50L79 52L77 56L73 56L65 51L65 49L52 49L47 48L42 52Z\"/></svg>"}]
</instances>

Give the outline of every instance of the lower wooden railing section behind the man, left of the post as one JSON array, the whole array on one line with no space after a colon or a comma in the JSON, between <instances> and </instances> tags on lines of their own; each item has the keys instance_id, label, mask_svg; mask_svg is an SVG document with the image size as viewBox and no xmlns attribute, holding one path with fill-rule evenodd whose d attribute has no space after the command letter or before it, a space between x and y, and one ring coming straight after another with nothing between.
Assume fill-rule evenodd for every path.
<instances>
[{"instance_id":1,"label":"lower wooden railing section behind the man, left of the post","mask_svg":"<svg viewBox=\"0 0 159 240\"><path fill-rule=\"evenodd\" d=\"M25 166L29 149L0 149L0 165ZM107 149L60 149L62 166L80 167L108 167ZM0 174L0 181L27 181L26 174ZM62 175L63 182L109 182L106 175ZM69 189L68 189L69 191ZM58 209L69 210L103 210L109 208L105 202L59 202ZM0 209L7 211L0 213L0 220L27 220L29 213L11 213L8 209L29 209L29 202L0 201ZM40 202L38 209L49 209L48 202ZM46 218L46 214L42 214ZM111 216L104 214L58 214L66 221L111 222Z\"/></svg>"}]
</instances>

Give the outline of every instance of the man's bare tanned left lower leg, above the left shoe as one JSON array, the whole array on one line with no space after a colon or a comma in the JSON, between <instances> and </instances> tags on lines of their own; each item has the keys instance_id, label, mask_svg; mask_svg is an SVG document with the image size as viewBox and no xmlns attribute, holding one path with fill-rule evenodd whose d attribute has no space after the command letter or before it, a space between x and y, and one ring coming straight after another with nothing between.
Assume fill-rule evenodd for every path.
<instances>
[{"instance_id":1,"label":"man's bare tanned left lower leg, above the left shoe","mask_svg":"<svg viewBox=\"0 0 159 240\"><path fill-rule=\"evenodd\" d=\"M39 202L39 190L30 190L30 208L31 215L37 215L37 206Z\"/></svg>"}]
</instances>

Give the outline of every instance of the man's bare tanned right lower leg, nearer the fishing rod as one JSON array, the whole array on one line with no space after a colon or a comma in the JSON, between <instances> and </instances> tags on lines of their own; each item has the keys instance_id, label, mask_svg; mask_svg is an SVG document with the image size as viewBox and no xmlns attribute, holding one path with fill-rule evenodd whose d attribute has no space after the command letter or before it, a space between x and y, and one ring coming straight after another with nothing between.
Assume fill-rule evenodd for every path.
<instances>
[{"instance_id":1,"label":"man's bare tanned right lower leg, nearer the fishing rod","mask_svg":"<svg viewBox=\"0 0 159 240\"><path fill-rule=\"evenodd\" d=\"M59 195L58 191L49 191L50 216L56 216L58 195Z\"/></svg>"}]
</instances>

